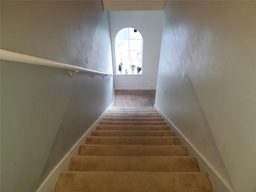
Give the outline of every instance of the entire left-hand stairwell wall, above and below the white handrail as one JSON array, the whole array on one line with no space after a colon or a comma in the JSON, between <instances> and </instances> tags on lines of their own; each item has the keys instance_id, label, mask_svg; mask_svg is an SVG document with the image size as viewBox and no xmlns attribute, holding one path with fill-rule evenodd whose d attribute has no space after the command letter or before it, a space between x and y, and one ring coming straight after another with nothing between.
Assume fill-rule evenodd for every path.
<instances>
[{"instance_id":1,"label":"entire left-hand stairwell wall, above and below the white handrail","mask_svg":"<svg viewBox=\"0 0 256 192\"><path fill-rule=\"evenodd\" d=\"M1 1L1 48L113 72L102 1ZM1 191L35 191L110 106L113 77L0 66Z\"/></svg>"}]
</instances>

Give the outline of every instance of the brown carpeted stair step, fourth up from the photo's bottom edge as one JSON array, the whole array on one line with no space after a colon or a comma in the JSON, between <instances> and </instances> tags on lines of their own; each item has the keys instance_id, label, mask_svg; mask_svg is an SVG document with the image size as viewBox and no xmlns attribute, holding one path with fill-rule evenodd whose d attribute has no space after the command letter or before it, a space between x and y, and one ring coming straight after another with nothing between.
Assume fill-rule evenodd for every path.
<instances>
[{"instance_id":1,"label":"brown carpeted stair step, fourth up from the photo's bottom edge","mask_svg":"<svg viewBox=\"0 0 256 192\"><path fill-rule=\"evenodd\" d=\"M86 144L97 145L180 145L179 137L87 137Z\"/></svg>"}]
</instances>

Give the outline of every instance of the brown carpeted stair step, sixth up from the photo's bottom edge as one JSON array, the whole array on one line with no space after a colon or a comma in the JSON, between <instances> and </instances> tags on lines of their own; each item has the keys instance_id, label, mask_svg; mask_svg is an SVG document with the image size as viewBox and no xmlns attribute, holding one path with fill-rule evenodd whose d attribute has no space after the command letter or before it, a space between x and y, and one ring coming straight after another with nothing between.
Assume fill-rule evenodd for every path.
<instances>
[{"instance_id":1,"label":"brown carpeted stair step, sixth up from the photo's bottom edge","mask_svg":"<svg viewBox=\"0 0 256 192\"><path fill-rule=\"evenodd\" d=\"M171 130L166 125L97 125L96 130Z\"/></svg>"}]
</instances>

